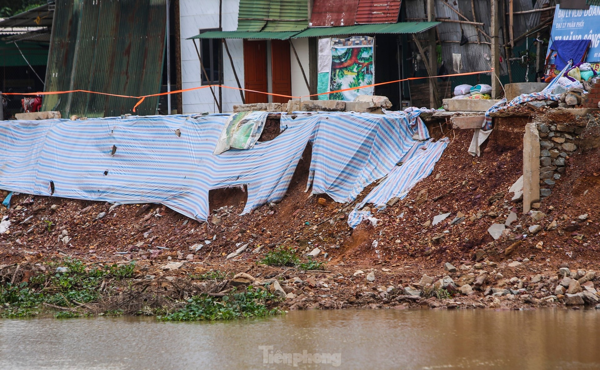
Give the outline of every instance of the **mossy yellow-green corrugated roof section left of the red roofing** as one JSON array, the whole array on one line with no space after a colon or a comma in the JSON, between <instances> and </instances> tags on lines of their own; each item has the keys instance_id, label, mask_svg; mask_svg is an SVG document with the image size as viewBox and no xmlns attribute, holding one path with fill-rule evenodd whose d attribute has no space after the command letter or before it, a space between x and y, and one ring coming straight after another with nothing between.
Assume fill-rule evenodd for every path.
<instances>
[{"instance_id":1,"label":"mossy yellow-green corrugated roof section left of the red roofing","mask_svg":"<svg viewBox=\"0 0 600 370\"><path fill-rule=\"evenodd\" d=\"M307 0L239 1L237 31L302 31L307 27Z\"/></svg>"}]
</instances>

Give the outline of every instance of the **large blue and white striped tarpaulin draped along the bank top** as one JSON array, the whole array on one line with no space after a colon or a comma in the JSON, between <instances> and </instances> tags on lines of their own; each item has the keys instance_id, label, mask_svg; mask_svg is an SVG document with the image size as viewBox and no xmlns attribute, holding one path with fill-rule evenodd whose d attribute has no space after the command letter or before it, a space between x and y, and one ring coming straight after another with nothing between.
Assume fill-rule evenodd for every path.
<instances>
[{"instance_id":1,"label":"large blue and white striped tarpaulin draped along the bank top","mask_svg":"<svg viewBox=\"0 0 600 370\"><path fill-rule=\"evenodd\" d=\"M0 122L0 188L34 195L156 202L196 220L208 192L247 186L243 213L286 193L308 142L313 193L353 201L427 129L416 114L282 114L284 129L246 150L213 151L227 115ZM419 137L419 132L425 137Z\"/></svg>"}]
</instances>

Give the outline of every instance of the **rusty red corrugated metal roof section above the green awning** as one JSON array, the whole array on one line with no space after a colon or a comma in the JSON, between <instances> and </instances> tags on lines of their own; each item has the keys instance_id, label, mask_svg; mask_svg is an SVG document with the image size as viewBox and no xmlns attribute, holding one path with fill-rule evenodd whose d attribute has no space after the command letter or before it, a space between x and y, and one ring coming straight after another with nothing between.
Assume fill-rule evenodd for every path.
<instances>
[{"instance_id":1,"label":"rusty red corrugated metal roof section above the green awning","mask_svg":"<svg viewBox=\"0 0 600 370\"><path fill-rule=\"evenodd\" d=\"M358 0L314 0L311 27L354 25Z\"/></svg>"}]
</instances>

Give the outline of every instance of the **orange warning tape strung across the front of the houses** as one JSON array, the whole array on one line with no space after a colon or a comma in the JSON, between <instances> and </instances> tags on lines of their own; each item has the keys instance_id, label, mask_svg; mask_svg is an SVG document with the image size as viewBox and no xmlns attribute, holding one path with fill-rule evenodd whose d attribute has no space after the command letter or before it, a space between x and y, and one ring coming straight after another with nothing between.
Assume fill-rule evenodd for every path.
<instances>
[{"instance_id":1,"label":"orange warning tape strung across the front of the houses","mask_svg":"<svg viewBox=\"0 0 600 370\"><path fill-rule=\"evenodd\" d=\"M310 98L311 96L319 96L319 95L325 95L325 94L331 94L331 93L338 93L338 92L344 92L344 91L350 91L350 90L364 89L365 87L380 86L380 85L385 85L385 84L389 84L389 83L397 83L397 82L410 81L410 80L421 80L422 78L456 77L456 76L475 75L475 74L490 73L490 72L493 72L493 69L491 69L490 71L464 72L464 73L456 73L456 74L445 74L445 75L439 75L439 76L409 77L409 78L404 78L403 80L380 82L380 83L374 83L374 84L370 84L370 85L364 85L364 86L358 86L358 87L350 87L349 89L334 90L334 91L328 91L328 92L324 92L324 93L317 93L317 94L311 94L311 95L302 95L302 96L283 95L283 94L269 93L269 92L263 92L263 91L257 91L257 90L250 90L250 89L240 89L239 87L225 86L225 85L205 85L205 86L198 86L198 87L190 87L189 89L173 90L173 91L170 91L170 92L150 94L150 95L142 95L142 96L110 94L110 93L103 93L103 92L96 92L96 91L89 91L89 90L68 90L68 91L34 92L34 93L6 93L6 92L2 92L1 94L2 95L55 95L55 94L68 94L68 93L74 93L74 92L84 92L84 93L91 93L91 94L98 94L98 95L116 96L118 98L140 99L136 103L136 105L133 106L133 112L135 113L136 108L140 104L142 104L142 102L144 101L144 99L149 98L151 96L161 96L161 95L170 95L170 94L184 93L184 92L188 92L188 91L192 91L192 90L206 89L207 87L223 87L225 89L242 90L242 91L254 92L254 93L271 95L271 96L282 96L283 98L302 99L302 98Z\"/></svg>"}]
</instances>

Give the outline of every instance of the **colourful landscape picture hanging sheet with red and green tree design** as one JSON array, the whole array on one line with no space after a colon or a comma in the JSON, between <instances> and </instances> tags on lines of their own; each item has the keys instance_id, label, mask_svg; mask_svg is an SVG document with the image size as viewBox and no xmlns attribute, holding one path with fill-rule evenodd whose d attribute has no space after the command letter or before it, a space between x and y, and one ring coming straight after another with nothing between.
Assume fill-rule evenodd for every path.
<instances>
[{"instance_id":1,"label":"colourful landscape picture hanging sheet with red and green tree design","mask_svg":"<svg viewBox=\"0 0 600 370\"><path fill-rule=\"evenodd\" d=\"M373 84L373 37L354 36L331 39L331 77L329 91ZM374 87L330 93L329 99L353 101L358 95L373 95Z\"/></svg>"}]
</instances>

